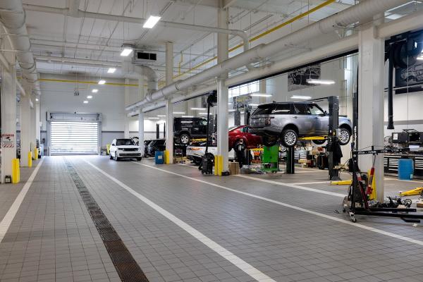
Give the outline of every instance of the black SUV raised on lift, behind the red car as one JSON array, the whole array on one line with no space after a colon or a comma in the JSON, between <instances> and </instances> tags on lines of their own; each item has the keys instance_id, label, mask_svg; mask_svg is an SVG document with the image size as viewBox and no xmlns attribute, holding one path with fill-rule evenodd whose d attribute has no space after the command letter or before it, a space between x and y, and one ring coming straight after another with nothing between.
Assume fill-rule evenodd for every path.
<instances>
[{"instance_id":1,"label":"black SUV raised on lift, behind the red car","mask_svg":"<svg viewBox=\"0 0 423 282\"><path fill-rule=\"evenodd\" d=\"M206 118L174 118L173 136L182 145L190 144L195 138L207 137Z\"/></svg>"}]
</instances>

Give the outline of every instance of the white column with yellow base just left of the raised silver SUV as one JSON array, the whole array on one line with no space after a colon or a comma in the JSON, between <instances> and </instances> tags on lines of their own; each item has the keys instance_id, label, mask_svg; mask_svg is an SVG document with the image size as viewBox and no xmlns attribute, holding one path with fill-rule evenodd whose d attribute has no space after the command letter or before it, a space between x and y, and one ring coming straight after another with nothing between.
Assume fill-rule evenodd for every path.
<instances>
[{"instance_id":1,"label":"white column with yellow base just left of the raised silver SUV","mask_svg":"<svg viewBox=\"0 0 423 282\"><path fill-rule=\"evenodd\" d=\"M219 8L218 27L228 28L228 8ZM228 35L217 35L217 63L228 59ZM228 86L225 80L228 73L217 79L217 154L221 158L219 175L228 171ZM221 166L221 167L220 167Z\"/></svg>"}]
</instances>

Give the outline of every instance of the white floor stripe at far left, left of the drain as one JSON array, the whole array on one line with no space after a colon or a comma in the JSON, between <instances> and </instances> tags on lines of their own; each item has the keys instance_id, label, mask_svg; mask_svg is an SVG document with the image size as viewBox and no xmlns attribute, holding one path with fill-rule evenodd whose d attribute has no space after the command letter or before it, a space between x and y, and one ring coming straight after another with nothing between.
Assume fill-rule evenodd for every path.
<instances>
[{"instance_id":1,"label":"white floor stripe at far left, left of the drain","mask_svg":"<svg viewBox=\"0 0 423 282\"><path fill-rule=\"evenodd\" d=\"M32 171L30 178L28 178L25 185L23 185L22 190L20 190L18 197L16 197L16 199L15 199L15 202L13 202L13 204L11 205L7 214L1 220L1 222L0 222L0 243L4 238L4 235L6 235L8 228L11 226L13 219L15 218L16 214L18 213L18 209L19 209L20 205L22 204L23 199L25 199L25 195L27 194L28 190L30 189L31 184L34 181L35 176L37 176L37 172L38 172L39 167L41 166L43 161L44 161L44 159L41 159L41 161L39 161L39 163L35 167L34 171Z\"/></svg>"}]
</instances>

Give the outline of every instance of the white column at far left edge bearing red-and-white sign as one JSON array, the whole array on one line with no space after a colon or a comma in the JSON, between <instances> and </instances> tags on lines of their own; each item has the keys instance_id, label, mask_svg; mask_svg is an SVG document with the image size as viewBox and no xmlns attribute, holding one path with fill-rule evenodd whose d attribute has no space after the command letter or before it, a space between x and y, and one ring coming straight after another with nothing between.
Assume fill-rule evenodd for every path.
<instances>
[{"instance_id":1,"label":"white column at far left edge bearing red-and-white sign","mask_svg":"<svg viewBox=\"0 0 423 282\"><path fill-rule=\"evenodd\" d=\"M11 49L4 37L4 48ZM1 148L1 183L4 176L12 175L12 159L16 159L16 57L14 52L4 52L9 66L1 66L1 134L10 135L13 144Z\"/></svg>"}]
</instances>

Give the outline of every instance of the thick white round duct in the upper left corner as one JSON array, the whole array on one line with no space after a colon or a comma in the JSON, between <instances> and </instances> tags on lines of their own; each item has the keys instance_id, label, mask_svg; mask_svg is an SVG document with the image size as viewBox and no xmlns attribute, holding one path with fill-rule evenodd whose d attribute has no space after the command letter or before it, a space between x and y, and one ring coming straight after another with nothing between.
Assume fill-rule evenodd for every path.
<instances>
[{"instance_id":1,"label":"thick white round duct in the upper left corner","mask_svg":"<svg viewBox=\"0 0 423 282\"><path fill-rule=\"evenodd\" d=\"M25 12L21 0L0 1L0 21L4 25L16 59L22 70L23 82L32 85L35 94L41 94L35 60L32 56L30 37L25 23Z\"/></svg>"}]
</instances>

